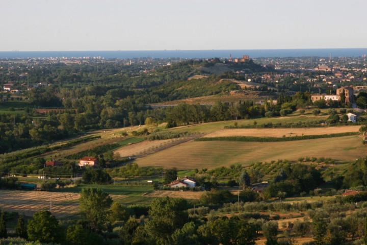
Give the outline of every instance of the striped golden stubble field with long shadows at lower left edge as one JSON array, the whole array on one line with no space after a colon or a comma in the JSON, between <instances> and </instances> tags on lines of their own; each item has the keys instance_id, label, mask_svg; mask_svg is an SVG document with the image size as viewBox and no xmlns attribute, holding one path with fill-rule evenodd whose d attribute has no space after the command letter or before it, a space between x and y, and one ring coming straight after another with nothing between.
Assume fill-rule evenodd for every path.
<instances>
[{"instance_id":1,"label":"striped golden stubble field with long shadows at lower left edge","mask_svg":"<svg viewBox=\"0 0 367 245\"><path fill-rule=\"evenodd\" d=\"M78 193L0 190L0 209L32 216L41 210L50 210L57 218L68 218L79 212Z\"/></svg>"}]
</instances>

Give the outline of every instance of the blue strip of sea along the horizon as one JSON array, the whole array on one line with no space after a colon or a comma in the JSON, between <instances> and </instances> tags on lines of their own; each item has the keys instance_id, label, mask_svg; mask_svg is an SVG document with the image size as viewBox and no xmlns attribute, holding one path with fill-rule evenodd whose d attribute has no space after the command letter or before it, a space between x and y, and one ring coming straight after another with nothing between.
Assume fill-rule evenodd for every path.
<instances>
[{"instance_id":1,"label":"blue strip of sea along the horizon","mask_svg":"<svg viewBox=\"0 0 367 245\"><path fill-rule=\"evenodd\" d=\"M155 50L155 51L0 51L0 58L81 58L100 57L115 59L133 58L233 58L248 55L250 58L267 57L361 57L367 48L304 48L283 50Z\"/></svg>"}]
</instances>

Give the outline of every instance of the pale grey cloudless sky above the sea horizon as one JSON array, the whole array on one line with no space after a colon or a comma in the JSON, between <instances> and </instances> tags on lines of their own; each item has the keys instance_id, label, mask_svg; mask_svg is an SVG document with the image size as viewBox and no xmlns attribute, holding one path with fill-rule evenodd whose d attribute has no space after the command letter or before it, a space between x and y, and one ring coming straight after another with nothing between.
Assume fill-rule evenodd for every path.
<instances>
[{"instance_id":1,"label":"pale grey cloudless sky above the sea horizon","mask_svg":"<svg viewBox=\"0 0 367 245\"><path fill-rule=\"evenodd\" d=\"M1 0L0 51L367 47L366 0Z\"/></svg>"}]
</instances>

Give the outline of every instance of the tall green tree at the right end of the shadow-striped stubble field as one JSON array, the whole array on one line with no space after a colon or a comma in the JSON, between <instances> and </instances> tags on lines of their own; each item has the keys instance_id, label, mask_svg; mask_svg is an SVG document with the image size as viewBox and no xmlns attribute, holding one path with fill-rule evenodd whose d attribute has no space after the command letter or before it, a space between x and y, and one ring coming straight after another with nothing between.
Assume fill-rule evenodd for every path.
<instances>
[{"instance_id":1,"label":"tall green tree at the right end of the shadow-striped stubble field","mask_svg":"<svg viewBox=\"0 0 367 245\"><path fill-rule=\"evenodd\" d=\"M92 231L100 230L107 221L112 198L99 188L83 188L79 199L79 207L83 219L88 222Z\"/></svg>"}]
</instances>

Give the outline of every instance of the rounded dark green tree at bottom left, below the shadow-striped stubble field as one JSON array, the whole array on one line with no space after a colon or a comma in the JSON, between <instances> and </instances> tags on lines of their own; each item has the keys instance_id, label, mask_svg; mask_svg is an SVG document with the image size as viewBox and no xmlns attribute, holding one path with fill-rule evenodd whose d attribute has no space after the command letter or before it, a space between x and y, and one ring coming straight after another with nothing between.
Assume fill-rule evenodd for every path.
<instances>
[{"instance_id":1,"label":"rounded dark green tree at bottom left, below the shadow-striped stubble field","mask_svg":"<svg viewBox=\"0 0 367 245\"><path fill-rule=\"evenodd\" d=\"M28 222L28 239L40 242L57 242L58 225L58 220L49 211L38 211Z\"/></svg>"}]
</instances>

